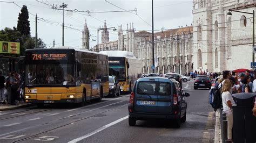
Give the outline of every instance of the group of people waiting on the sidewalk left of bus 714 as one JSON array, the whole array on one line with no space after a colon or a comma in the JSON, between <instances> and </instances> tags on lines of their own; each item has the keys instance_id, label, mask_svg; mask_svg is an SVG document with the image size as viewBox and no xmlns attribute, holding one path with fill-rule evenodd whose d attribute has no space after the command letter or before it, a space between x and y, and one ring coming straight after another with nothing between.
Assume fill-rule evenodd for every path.
<instances>
[{"instance_id":1,"label":"group of people waiting on the sidewalk left of bus 714","mask_svg":"<svg viewBox=\"0 0 256 143\"><path fill-rule=\"evenodd\" d=\"M23 102L24 97L20 94L23 82L22 72L18 74L16 71L12 71L5 78L0 70L0 104L15 105L18 102Z\"/></svg>"}]
</instances>

